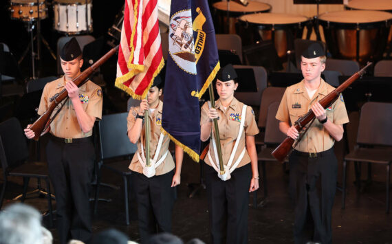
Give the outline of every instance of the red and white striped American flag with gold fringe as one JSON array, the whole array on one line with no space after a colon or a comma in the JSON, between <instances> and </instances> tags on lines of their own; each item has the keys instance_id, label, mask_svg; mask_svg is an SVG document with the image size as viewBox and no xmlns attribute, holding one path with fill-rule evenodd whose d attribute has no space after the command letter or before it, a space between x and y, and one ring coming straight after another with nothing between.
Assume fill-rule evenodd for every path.
<instances>
[{"instance_id":1,"label":"red and white striped American flag with gold fringe","mask_svg":"<svg viewBox=\"0 0 392 244\"><path fill-rule=\"evenodd\" d=\"M116 87L145 98L163 66L157 0L125 0Z\"/></svg>"}]
</instances>

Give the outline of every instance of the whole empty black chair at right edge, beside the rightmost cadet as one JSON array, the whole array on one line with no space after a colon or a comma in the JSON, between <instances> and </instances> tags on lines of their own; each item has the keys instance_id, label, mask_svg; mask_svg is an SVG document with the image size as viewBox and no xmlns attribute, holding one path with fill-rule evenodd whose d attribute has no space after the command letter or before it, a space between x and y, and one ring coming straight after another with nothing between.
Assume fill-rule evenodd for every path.
<instances>
[{"instance_id":1,"label":"whole empty black chair at right edge, beside the rightmost cadet","mask_svg":"<svg viewBox=\"0 0 392 244\"><path fill-rule=\"evenodd\" d=\"M356 169L362 162L386 166L386 210L389 212L389 179L392 162L392 103L367 102L362 106L356 146L343 160L342 209L345 208L347 162L354 162ZM359 164L359 165L358 165ZM360 174L356 170L356 185L359 192Z\"/></svg>"}]
</instances>

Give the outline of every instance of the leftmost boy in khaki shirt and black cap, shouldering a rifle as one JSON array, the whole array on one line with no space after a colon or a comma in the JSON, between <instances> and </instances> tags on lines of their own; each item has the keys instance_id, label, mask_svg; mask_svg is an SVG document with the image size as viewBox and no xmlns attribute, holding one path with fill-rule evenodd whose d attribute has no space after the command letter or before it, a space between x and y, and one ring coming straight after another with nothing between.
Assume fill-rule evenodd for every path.
<instances>
[{"instance_id":1,"label":"leftmost boy in khaki shirt and black cap, shouldering a rifle","mask_svg":"<svg viewBox=\"0 0 392 244\"><path fill-rule=\"evenodd\" d=\"M76 38L65 43L60 58L65 76L45 85L38 113L45 113L50 98L67 89L67 100L63 100L53 114L58 109L61 111L50 128L44 131L50 132L46 148L47 165L56 194L60 242L63 244L69 239L76 239L88 243L91 239L89 192L95 157L91 133L94 122L102 116L102 90L91 81L80 88L72 82L83 65ZM28 128L25 135L34 137L34 131Z\"/></svg>"}]
</instances>

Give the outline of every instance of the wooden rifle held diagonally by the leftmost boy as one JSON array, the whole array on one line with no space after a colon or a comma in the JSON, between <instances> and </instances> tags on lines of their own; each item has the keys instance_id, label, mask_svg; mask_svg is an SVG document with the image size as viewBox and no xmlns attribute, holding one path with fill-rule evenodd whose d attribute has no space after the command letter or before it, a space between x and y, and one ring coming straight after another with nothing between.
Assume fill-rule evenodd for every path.
<instances>
[{"instance_id":1,"label":"wooden rifle held diagonally by the leftmost boy","mask_svg":"<svg viewBox=\"0 0 392 244\"><path fill-rule=\"evenodd\" d=\"M102 58L97 60L96 63L94 63L94 65L91 65L85 71L83 71L80 75L78 75L76 78L74 78L72 80L72 82L74 82L77 87L81 87L83 84L85 84L85 82L87 82L87 80L89 80L89 76L91 76L91 74L93 74L94 71L96 71L96 69L98 69L98 67L100 67L100 65L105 63L111 56L113 56L113 54L115 54L117 52L117 50L118 50L118 46L113 47L109 52L107 52L107 54L105 54L104 56L102 56ZM52 123L52 121L54 120L54 118L57 115L57 113L56 113L51 118L51 115L52 115L54 109L56 108L56 106L58 104L61 104L61 102L63 100L65 100L65 98L68 98L68 92L66 89L63 89L59 93L56 93L52 98L50 98L50 105L49 105L47 111L45 111L45 113L43 113L43 115L41 115L41 117L38 118L38 120L36 120L29 127L29 129L31 129L35 133L35 136L32 139L34 139L36 141L39 140L41 133L43 131L45 131L47 129L47 127L50 126L50 123Z\"/></svg>"}]
</instances>

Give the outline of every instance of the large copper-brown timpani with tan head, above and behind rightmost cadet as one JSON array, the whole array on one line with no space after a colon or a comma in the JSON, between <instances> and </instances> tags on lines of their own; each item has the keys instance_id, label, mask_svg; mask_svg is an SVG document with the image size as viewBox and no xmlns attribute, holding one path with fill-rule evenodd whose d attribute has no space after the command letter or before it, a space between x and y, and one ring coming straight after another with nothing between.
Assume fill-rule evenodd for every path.
<instances>
[{"instance_id":1,"label":"large copper-brown timpani with tan head, above and behind rightmost cadet","mask_svg":"<svg viewBox=\"0 0 392 244\"><path fill-rule=\"evenodd\" d=\"M391 13L370 10L329 12L318 17L332 56L362 64L382 58L391 21Z\"/></svg>"}]
</instances>

